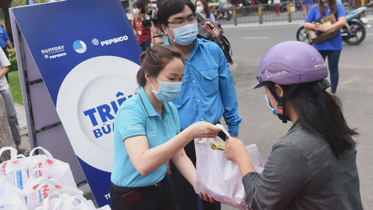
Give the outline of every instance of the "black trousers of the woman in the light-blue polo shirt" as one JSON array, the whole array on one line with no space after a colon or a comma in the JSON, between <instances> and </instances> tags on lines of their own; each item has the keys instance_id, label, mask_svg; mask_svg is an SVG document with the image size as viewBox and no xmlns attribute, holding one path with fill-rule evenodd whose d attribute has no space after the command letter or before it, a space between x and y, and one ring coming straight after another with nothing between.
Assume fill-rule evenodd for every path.
<instances>
[{"instance_id":1,"label":"black trousers of the woman in the light-blue polo shirt","mask_svg":"<svg viewBox=\"0 0 373 210\"><path fill-rule=\"evenodd\" d=\"M167 175L157 186L126 188L111 184L110 199L113 210L176 210Z\"/></svg>"}]
</instances>

